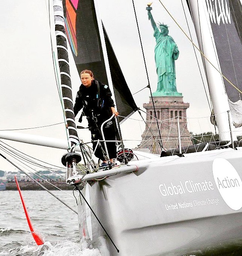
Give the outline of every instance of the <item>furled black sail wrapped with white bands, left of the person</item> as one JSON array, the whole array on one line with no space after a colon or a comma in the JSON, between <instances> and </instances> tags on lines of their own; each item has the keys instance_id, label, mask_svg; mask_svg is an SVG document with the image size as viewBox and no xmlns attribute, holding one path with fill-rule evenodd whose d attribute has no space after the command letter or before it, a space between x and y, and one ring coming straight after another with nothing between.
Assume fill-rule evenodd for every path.
<instances>
[{"instance_id":1,"label":"furled black sail wrapped with white bands, left of the person","mask_svg":"<svg viewBox=\"0 0 242 256\"><path fill-rule=\"evenodd\" d=\"M72 85L70 78L69 58L67 51L67 36L65 32L64 12L62 0L53 1L55 36L57 44L58 63L60 68L61 92L64 102L64 111L69 131L69 142L78 144L79 138L76 130L73 111Z\"/></svg>"}]
</instances>

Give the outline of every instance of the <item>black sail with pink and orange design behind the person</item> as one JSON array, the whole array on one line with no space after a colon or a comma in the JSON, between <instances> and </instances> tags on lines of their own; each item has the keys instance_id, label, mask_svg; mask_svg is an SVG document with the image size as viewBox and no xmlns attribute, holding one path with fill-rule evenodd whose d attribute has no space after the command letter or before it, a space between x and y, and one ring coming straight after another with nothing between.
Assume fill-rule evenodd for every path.
<instances>
[{"instance_id":1,"label":"black sail with pink and orange design behind the person","mask_svg":"<svg viewBox=\"0 0 242 256\"><path fill-rule=\"evenodd\" d=\"M111 91L113 86L118 112L121 116L127 117L137 110L137 106L105 31L103 33L106 49L104 48L105 45L100 37L102 26L98 23L94 0L75 1L75 5L72 2L65 0L63 5L65 3L67 38L77 70L80 73L84 69L90 69L95 78L111 87ZM109 63L105 60L106 53ZM108 78L107 73L111 74L111 79Z\"/></svg>"}]
</instances>

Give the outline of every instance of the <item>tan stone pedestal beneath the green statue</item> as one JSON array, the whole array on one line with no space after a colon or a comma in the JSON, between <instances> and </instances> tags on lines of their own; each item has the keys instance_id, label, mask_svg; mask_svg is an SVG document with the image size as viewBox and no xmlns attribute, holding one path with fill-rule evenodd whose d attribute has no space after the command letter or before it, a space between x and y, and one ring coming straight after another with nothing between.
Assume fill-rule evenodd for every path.
<instances>
[{"instance_id":1,"label":"tan stone pedestal beneath the green statue","mask_svg":"<svg viewBox=\"0 0 242 256\"><path fill-rule=\"evenodd\" d=\"M181 93L179 93L181 94ZM152 93L154 95L154 93ZM178 121L180 126L180 135L182 146L191 145L191 134L187 130L187 108L190 104L183 102L183 96L153 96L155 112L157 115L158 126L160 127L161 140L163 147L167 149L178 148ZM146 143L145 148L151 149L154 147L154 139L160 139L158 133L157 122L155 121L155 113L152 104L152 99L149 97L149 103L144 103L146 109L147 125L142 134L143 140L150 140ZM154 117L152 117L154 116ZM178 117L176 117L178 116ZM163 121L161 121L163 120ZM152 123L150 121L153 121ZM145 145L145 143L144 143ZM155 154L160 154L161 149L158 143L155 146Z\"/></svg>"}]
</instances>

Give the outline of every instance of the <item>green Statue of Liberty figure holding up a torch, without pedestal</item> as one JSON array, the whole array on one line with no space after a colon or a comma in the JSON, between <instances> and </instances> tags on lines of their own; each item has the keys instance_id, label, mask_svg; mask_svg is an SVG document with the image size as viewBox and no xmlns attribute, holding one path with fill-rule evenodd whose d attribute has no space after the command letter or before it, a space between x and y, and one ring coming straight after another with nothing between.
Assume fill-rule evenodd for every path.
<instances>
[{"instance_id":1,"label":"green Statue of Liberty figure holding up a torch, without pedestal","mask_svg":"<svg viewBox=\"0 0 242 256\"><path fill-rule=\"evenodd\" d=\"M156 92L152 96L182 96L182 93L176 90L176 71L175 60L178 59L179 50L171 36L168 35L168 26L159 23L157 28L152 17L150 7L148 4L148 18L151 20L151 25L154 29L155 45L155 64L158 75L158 83Z\"/></svg>"}]
</instances>

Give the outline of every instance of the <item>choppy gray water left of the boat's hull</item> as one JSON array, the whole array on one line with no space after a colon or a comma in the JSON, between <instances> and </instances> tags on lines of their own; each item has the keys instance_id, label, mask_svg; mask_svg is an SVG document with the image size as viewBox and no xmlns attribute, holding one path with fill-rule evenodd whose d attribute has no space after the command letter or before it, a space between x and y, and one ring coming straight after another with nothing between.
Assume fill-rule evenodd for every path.
<instances>
[{"instance_id":1,"label":"choppy gray water left of the boat's hull","mask_svg":"<svg viewBox=\"0 0 242 256\"><path fill-rule=\"evenodd\" d=\"M77 211L76 201L52 191ZM72 191L66 191L72 195ZM0 255L101 256L80 241L77 214L46 191L22 191L35 231L45 241L37 246L30 233L18 191L0 191ZM77 194L78 196L78 194Z\"/></svg>"}]
</instances>

